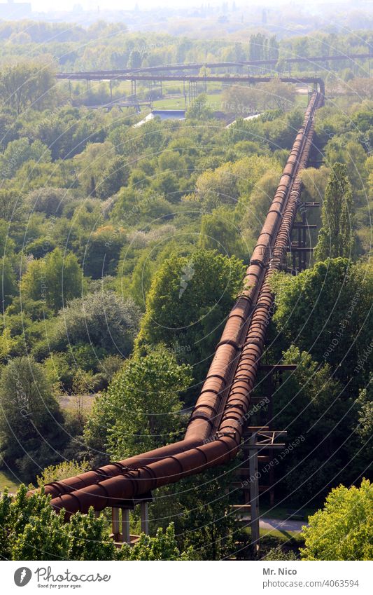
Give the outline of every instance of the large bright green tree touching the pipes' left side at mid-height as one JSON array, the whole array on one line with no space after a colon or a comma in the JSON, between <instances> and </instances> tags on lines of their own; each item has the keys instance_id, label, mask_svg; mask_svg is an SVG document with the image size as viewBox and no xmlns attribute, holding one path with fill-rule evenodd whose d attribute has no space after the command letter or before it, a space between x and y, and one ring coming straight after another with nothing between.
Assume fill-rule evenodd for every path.
<instances>
[{"instance_id":1,"label":"large bright green tree touching the pipes' left side at mid-height","mask_svg":"<svg viewBox=\"0 0 373 595\"><path fill-rule=\"evenodd\" d=\"M153 278L137 345L165 343L202 374L243 275L239 259L210 250L171 256Z\"/></svg>"}]
</instances>

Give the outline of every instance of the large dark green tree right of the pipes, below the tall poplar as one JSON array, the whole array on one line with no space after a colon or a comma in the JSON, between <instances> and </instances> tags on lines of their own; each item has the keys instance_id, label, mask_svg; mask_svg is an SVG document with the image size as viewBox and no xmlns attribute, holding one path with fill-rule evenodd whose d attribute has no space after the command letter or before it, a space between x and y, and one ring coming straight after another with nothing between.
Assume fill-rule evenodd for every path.
<instances>
[{"instance_id":1,"label":"large dark green tree right of the pipes, below the tall poplar","mask_svg":"<svg viewBox=\"0 0 373 595\"><path fill-rule=\"evenodd\" d=\"M364 386L372 362L372 266L328 259L296 277L279 273L272 287L274 322L289 344L328 362L340 380Z\"/></svg>"}]
</instances>

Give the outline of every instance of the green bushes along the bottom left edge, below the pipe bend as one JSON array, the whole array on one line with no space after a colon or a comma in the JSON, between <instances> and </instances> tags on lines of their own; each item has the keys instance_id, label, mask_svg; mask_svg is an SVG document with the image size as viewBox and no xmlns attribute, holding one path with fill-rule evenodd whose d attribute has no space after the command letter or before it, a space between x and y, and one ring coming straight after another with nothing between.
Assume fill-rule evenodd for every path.
<instances>
[{"instance_id":1,"label":"green bushes along the bottom left edge, below the pipe bend","mask_svg":"<svg viewBox=\"0 0 373 595\"><path fill-rule=\"evenodd\" d=\"M160 528L151 538L141 534L134 547L117 549L109 537L107 520L73 514L69 522L50 506L50 496L27 496L20 486L15 498L4 491L0 499L0 557L5 560L191 560L192 548L180 552L174 526Z\"/></svg>"}]
</instances>

